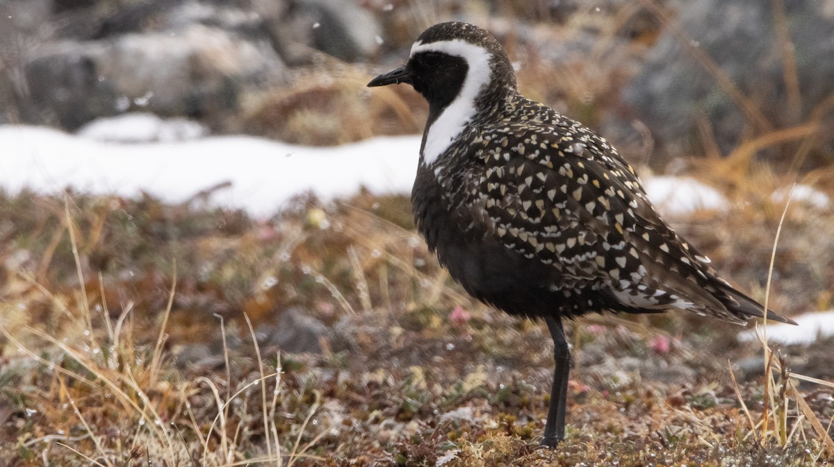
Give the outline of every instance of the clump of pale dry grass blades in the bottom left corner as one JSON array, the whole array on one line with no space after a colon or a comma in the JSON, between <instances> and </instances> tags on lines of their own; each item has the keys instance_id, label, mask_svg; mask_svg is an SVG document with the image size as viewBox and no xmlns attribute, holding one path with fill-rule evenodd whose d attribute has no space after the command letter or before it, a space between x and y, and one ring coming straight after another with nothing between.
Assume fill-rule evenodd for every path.
<instances>
[{"instance_id":1,"label":"clump of pale dry grass blades in the bottom left corner","mask_svg":"<svg viewBox=\"0 0 834 467\"><path fill-rule=\"evenodd\" d=\"M73 233L77 227L69 206L65 226L71 226L67 229L69 243L78 281L84 284L83 261ZM14 420L18 416L14 411L7 414L11 420L4 420L23 424L18 427L16 452L3 454L4 465L37 465L41 461L43 465L141 465L145 457L147 465L239 465L246 460L289 466L315 458L306 451L323 433L304 443L302 438L319 407L318 396L312 403L299 404L309 395L284 391L280 366L264 367L251 327L258 359L257 371L250 375L233 380L225 345L223 380L217 375L185 380L173 369L163 345L173 306L175 272L155 345L138 343L137 334L147 335L148 330L134 327L132 304L123 306L113 320L106 301L93 312L85 287L79 287L73 297L57 296L31 276L21 276L42 291L54 312L69 324L52 335L36 323L0 323L4 347L11 350L4 351L9 365L3 370L3 390L13 407L25 408L23 420ZM104 282L101 284L103 287ZM18 306L25 305L18 302ZM222 326L222 320L220 323ZM20 386L16 388L16 384ZM253 397L256 388L261 390L261 400ZM269 403L268 389L272 395ZM12 396L15 390L19 392ZM300 405L294 408L306 415L292 415L288 405ZM210 418L213 413L216 415ZM279 425L287 413L303 421ZM256 418L264 423L257 447L246 430ZM8 441L3 444L11 447Z\"/></svg>"}]
</instances>

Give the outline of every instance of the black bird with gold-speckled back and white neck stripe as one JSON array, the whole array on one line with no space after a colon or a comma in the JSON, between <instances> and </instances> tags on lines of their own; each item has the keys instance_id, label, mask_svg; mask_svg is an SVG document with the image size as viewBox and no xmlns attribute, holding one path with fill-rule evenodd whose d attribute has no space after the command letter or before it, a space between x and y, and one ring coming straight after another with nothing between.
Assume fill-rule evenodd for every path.
<instances>
[{"instance_id":1,"label":"black bird with gold-speckled back and white neck stripe","mask_svg":"<svg viewBox=\"0 0 834 467\"><path fill-rule=\"evenodd\" d=\"M523 97L500 42L466 22L429 27L402 67L429 105L411 192L414 224L475 299L544 319L554 378L540 444L565 438L570 348L563 320L681 310L744 324L764 311L661 219L605 138Z\"/></svg>"}]
</instances>

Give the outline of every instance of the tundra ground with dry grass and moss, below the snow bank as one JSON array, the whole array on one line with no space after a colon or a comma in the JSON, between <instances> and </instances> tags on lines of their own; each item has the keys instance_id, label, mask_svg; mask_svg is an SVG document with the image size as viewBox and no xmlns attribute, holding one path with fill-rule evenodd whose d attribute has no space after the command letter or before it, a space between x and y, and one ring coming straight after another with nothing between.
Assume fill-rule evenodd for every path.
<instances>
[{"instance_id":1,"label":"tundra ground with dry grass and moss, below the snow bank","mask_svg":"<svg viewBox=\"0 0 834 467\"><path fill-rule=\"evenodd\" d=\"M48 209L19 211L28 203ZM4 465L823 465L830 442L818 430L834 416L832 391L797 388L776 357L774 380L736 383L715 356L743 359L755 346L693 332L705 324L683 315L651 326L600 315L572 327L568 439L538 450L547 333L452 284L410 230L403 198L324 210L304 201L268 224L152 200L63 206L30 195L0 208L14 225L44 226L4 233L6 264L21 246L30 256L3 282ZM221 236L204 227L221 221ZM160 224L179 235L90 266L108 243L139 244L131 237ZM209 258L222 274L207 271ZM168 272L148 282L158 266L142 265L159 264ZM244 284L223 282L233 276ZM272 289L264 277L277 278ZM213 281L239 295L199 301ZM131 294L115 308L104 298ZM289 306L329 325L321 354L258 345L259 326ZM212 339L219 358L178 361Z\"/></svg>"}]
</instances>

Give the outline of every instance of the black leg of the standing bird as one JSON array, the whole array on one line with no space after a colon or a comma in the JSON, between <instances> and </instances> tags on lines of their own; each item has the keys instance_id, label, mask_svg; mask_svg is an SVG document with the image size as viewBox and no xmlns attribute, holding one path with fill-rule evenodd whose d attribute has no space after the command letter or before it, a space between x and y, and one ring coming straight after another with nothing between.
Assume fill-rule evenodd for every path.
<instances>
[{"instance_id":1,"label":"black leg of the standing bird","mask_svg":"<svg viewBox=\"0 0 834 467\"><path fill-rule=\"evenodd\" d=\"M547 410L545 423L545 438L541 445L555 447L565 438L565 402L568 396L568 373L570 372L570 349L565 340L565 330L562 321L553 317L546 317L550 337L553 338L553 385L550 387L550 409Z\"/></svg>"}]
</instances>

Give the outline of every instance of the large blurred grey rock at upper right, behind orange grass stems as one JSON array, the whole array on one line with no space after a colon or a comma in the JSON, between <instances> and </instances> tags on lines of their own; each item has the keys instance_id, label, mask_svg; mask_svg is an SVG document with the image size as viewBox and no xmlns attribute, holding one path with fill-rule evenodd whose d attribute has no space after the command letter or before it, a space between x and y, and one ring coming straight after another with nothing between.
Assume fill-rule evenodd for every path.
<instances>
[{"instance_id":1,"label":"large blurred grey rock at upper right, behind orange grass stems","mask_svg":"<svg viewBox=\"0 0 834 467\"><path fill-rule=\"evenodd\" d=\"M828 11L826 12L826 4ZM771 2L703 0L685 2L676 22L691 38L662 33L642 71L622 93L631 117L646 123L659 143L653 162L667 154L697 150L714 138L726 154L744 137L769 130L751 122L738 103L688 50L697 47L716 62L774 128L805 122L816 105L834 92L834 14L831 2L785 2L787 26L796 54L801 105L791 109ZM711 132L711 135L709 133ZM831 146L831 136L827 144Z\"/></svg>"}]
</instances>

